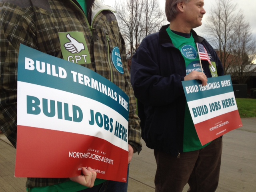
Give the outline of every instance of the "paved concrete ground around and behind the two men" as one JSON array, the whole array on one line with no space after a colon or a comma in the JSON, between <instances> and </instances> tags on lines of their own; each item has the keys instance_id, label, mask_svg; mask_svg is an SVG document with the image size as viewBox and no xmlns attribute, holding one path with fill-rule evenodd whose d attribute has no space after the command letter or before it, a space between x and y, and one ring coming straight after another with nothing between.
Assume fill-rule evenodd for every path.
<instances>
[{"instance_id":1,"label":"paved concrete ground around and behind the two men","mask_svg":"<svg viewBox=\"0 0 256 192\"><path fill-rule=\"evenodd\" d=\"M223 137L222 166L217 192L256 191L256 118L242 118L243 127ZM143 143L144 144L144 143ZM16 150L0 134L0 192L22 192L25 178L15 178ZM156 163L145 144L130 165L128 192L154 192ZM187 191L188 186L184 188ZM171 190L170 190L171 191Z\"/></svg>"}]
</instances>

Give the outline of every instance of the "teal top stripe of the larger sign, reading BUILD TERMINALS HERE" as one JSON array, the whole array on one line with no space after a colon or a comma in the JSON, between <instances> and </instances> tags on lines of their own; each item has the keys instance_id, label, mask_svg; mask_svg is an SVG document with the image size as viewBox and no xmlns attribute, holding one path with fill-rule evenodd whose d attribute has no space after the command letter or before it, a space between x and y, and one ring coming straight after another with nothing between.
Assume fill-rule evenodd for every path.
<instances>
[{"instance_id":1,"label":"teal top stripe of the larger sign, reading BUILD TERMINALS HERE","mask_svg":"<svg viewBox=\"0 0 256 192\"><path fill-rule=\"evenodd\" d=\"M129 104L126 110L119 104L119 98L124 98L126 102L129 98L118 86L88 68L22 44L18 58L18 81L91 98L116 110L128 120Z\"/></svg>"}]
</instances>

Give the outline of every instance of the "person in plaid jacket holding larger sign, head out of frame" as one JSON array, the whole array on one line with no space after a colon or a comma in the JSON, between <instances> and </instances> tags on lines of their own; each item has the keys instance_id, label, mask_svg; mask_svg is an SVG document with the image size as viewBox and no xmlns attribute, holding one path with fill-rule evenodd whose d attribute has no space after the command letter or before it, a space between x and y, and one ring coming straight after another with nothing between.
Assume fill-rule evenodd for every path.
<instances>
[{"instance_id":1,"label":"person in plaid jacket holding larger sign, head out of frame","mask_svg":"<svg viewBox=\"0 0 256 192\"><path fill-rule=\"evenodd\" d=\"M20 44L61 59L73 57L72 54L83 57L78 54L86 50L86 59L76 64L108 79L129 97L128 159L123 159L127 162L129 173L133 154L139 153L142 148L141 129L136 114L136 98L127 68L126 47L114 12L113 8L102 4L100 0L0 0L0 131L15 148ZM79 42L78 39L81 41ZM115 53L119 54L118 66L122 70L119 70L117 62L112 59ZM54 95L53 92L49 94ZM61 127L58 123L54 126ZM22 138L22 140L31 139L31 135ZM52 143L48 145L54 147ZM86 149L88 146L84 145L84 150ZM44 149L38 148L38 152L41 150ZM24 156L26 155L25 153ZM127 182L96 178L97 173L92 168L85 168L84 163L82 166L84 168L81 174L71 178L27 178L27 191L127 192ZM113 171L112 174L116 172Z\"/></svg>"}]
</instances>

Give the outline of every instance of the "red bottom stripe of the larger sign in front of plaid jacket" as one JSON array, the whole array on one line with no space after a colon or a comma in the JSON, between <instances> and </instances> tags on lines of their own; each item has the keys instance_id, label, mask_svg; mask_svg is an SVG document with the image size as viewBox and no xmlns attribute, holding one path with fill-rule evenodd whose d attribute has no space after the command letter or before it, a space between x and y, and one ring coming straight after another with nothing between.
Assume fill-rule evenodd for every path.
<instances>
[{"instance_id":1,"label":"red bottom stripe of the larger sign in front of plaid jacket","mask_svg":"<svg viewBox=\"0 0 256 192\"><path fill-rule=\"evenodd\" d=\"M89 166L97 178L126 182L128 151L93 136L18 126L16 177L68 178Z\"/></svg>"}]
</instances>

